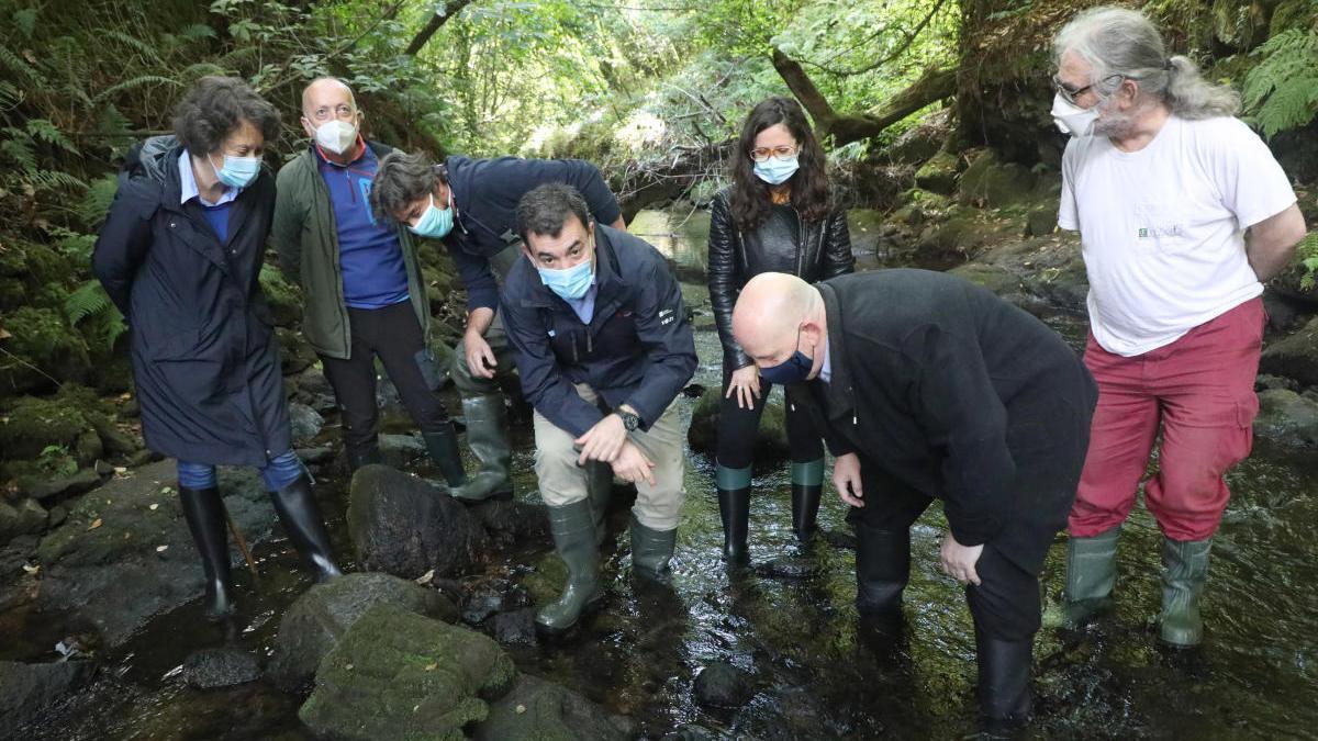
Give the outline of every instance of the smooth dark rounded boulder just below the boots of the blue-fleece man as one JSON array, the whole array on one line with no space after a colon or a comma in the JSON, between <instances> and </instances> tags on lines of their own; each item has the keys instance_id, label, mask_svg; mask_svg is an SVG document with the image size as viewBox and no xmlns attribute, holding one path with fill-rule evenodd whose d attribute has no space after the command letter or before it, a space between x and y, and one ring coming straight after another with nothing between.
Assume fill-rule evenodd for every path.
<instances>
[{"instance_id":1,"label":"smooth dark rounded boulder just below the boots of the blue-fleece man","mask_svg":"<svg viewBox=\"0 0 1318 741\"><path fill-rule=\"evenodd\" d=\"M357 563L415 579L471 571L485 550L485 533L459 501L387 465L366 465L352 477L348 534Z\"/></svg>"}]
</instances>

